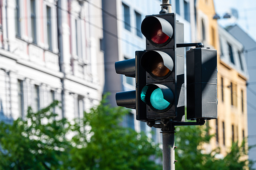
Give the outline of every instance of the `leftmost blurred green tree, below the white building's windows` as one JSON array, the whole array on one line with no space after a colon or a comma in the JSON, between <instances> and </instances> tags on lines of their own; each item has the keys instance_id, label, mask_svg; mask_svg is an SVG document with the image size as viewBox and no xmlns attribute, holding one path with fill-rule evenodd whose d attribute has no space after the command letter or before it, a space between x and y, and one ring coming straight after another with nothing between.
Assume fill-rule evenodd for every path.
<instances>
[{"instance_id":1,"label":"leftmost blurred green tree, below the white building's windows","mask_svg":"<svg viewBox=\"0 0 256 170\"><path fill-rule=\"evenodd\" d=\"M27 116L12 124L0 123L0 169L60 169L68 152L65 140L66 119L53 119L50 106L34 113L28 108ZM47 120L47 121L45 121Z\"/></svg>"}]
</instances>

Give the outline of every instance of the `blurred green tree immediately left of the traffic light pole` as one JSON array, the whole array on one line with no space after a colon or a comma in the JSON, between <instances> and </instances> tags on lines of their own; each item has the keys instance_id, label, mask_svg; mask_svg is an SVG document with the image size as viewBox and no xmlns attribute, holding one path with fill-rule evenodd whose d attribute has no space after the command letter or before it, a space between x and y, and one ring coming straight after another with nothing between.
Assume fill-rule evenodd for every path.
<instances>
[{"instance_id":1,"label":"blurred green tree immediately left of the traffic light pole","mask_svg":"<svg viewBox=\"0 0 256 170\"><path fill-rule=\"evenodd\" d=\"M72 166L78 169L162 169L162 165L154 161L161 157L159 147L144 133L120 126L127 111L110 107L103 101L86 112L83 121L72 127L79 132L73 137L77 147L71 151ZM81 123L86 128L81 129ZM81 147L83 144L86 146Z\"/></svg>"}]
</instances>

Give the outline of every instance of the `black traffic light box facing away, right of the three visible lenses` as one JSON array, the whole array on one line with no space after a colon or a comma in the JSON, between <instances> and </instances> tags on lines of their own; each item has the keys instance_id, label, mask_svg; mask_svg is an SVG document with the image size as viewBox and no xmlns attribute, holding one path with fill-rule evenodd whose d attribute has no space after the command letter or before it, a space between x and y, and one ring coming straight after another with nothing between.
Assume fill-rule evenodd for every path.
<instances>
[{"instance_id":1,"label":"black traffic light box facing away, right of the three visible lenses","mask_svg":"<svg viewBox=\"0 0 256 170\"><path fill-rule=\"evenodd\" d=\"M217 51L187 51L187 119L217 118Z\"/></svg>"}]
</instances>

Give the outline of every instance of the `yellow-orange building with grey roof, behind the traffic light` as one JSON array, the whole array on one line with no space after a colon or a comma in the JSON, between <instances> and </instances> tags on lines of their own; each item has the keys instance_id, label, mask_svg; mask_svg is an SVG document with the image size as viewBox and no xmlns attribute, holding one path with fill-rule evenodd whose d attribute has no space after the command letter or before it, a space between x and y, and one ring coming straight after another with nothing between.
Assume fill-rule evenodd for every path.
<instances>
[{"instance_id":1,"label":"yellow-orange building with grey roof, behind the traffic light","mask_svg":"<svg viewBox=\"0 0 256 170\"><path fill-rule=\"evenodd\" d=\"M213 0L196 1L197 41L218 53L218 118L209 120L211 149L225 155L232 141L241 144L247 136L246 80L243 46L213 19Z\"/></svg>"}]
</instances>

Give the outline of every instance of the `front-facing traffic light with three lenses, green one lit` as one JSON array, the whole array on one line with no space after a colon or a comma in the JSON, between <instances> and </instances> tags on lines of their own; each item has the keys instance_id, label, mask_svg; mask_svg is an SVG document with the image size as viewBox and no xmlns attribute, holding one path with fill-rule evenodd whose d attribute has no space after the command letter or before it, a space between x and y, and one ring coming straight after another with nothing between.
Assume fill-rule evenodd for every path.
<instances>
[{"instance_id":1,"label":"front-facing traffic light with three lenses, green one lit","mask_svg":"<svg viewBox=\"0 0 256 170\"><path fill-rule=\"evenodd\" d=\"M152 15L143 20L141 32L146 37L146 52L141 57L146 85L140 92L140 99L146 103L146 116L151 120L175 119L179 110L182 116L178 116L178 121L182 121L185 112L184 52L177 55L176 40L184 43L184 26L176 22L174 13ZM177 77L180 77L179 87Z\"/></svg>"}]
</instances>

